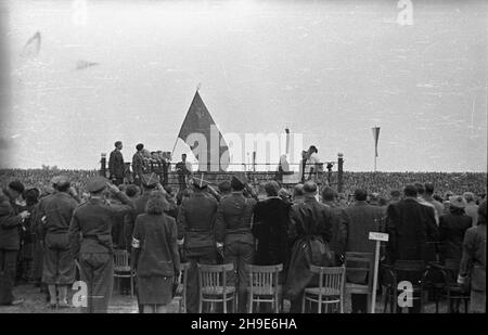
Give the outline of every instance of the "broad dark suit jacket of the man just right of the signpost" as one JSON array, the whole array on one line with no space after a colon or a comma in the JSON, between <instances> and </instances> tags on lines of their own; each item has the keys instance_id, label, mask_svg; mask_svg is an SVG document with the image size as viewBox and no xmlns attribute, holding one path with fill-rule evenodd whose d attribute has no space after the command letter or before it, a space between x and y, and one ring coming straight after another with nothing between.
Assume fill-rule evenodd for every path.
<instances>
[{"instance_id":1,"label":"broad dark suit jacket of the man just right of the signpost","mask_svg":"<svg viewBox=\"0 0 488 335\"><path fill-rule=\"evenodd\" d=\"M426 243L438 241L434 208L406 198L389 205L387 216L388 260L427 260Z\"/></svg>"}]
</instances>

